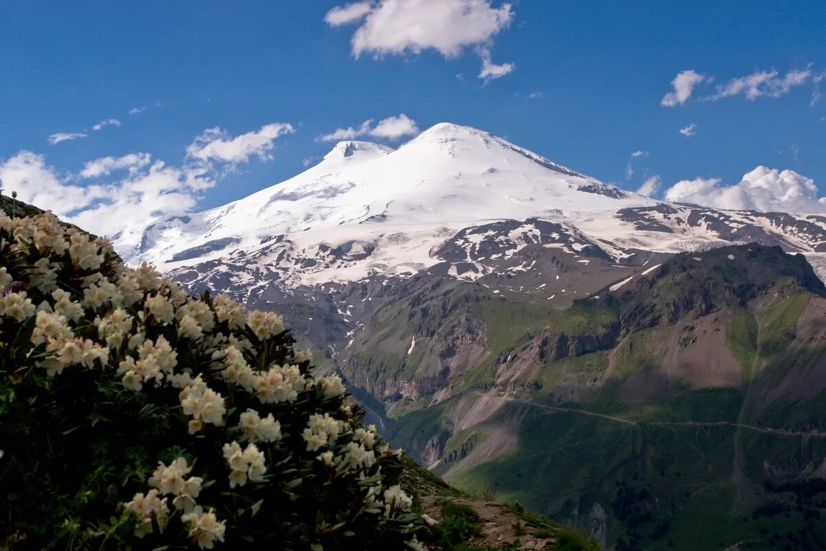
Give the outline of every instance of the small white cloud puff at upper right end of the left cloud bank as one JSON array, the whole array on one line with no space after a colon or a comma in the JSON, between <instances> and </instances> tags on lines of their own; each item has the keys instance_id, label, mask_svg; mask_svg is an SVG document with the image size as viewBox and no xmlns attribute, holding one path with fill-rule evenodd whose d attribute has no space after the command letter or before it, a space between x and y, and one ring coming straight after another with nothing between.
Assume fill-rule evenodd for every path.
<instances>
[{"instance_id":1,"label":"small white cloud puff at upper right end of the left cloud bank","mask_svg":"<svg viewBox=\"0 0 826 551\"><path fill-rule=\"evenodd\" d=\"M273 122L264 125L258 131L247 132L231 138L219 127L210 128L197 136L187 148L187 155L202 161L216 160L222 163L246 163L252 156L271 159L270 151L275 147L275 140L295 130L292 125Z\"/></svg>"}]
</instances>

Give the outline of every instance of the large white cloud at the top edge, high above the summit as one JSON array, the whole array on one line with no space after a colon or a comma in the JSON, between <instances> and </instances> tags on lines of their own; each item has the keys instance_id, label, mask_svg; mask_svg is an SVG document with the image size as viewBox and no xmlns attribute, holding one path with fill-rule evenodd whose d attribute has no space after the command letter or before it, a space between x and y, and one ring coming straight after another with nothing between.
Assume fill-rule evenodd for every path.
<instances>
[{"instance_id":1,"label":"large white cloud at the top edge, high above the summit","mask_svg":"<svg viewBox=\"0 0 826 551\"><path fill-rule=\"evenodd\" d=\"M358 23L351 40L356 58L424 50L453 58L467 47L477 47L482 58L479 78L490 79L515 68L514 64L492 63L489 53L493 37L513 17L509 3L494 7L491 0L379 0L334 7L324 19L330 26Z\"/></svg>"}]
</instances>

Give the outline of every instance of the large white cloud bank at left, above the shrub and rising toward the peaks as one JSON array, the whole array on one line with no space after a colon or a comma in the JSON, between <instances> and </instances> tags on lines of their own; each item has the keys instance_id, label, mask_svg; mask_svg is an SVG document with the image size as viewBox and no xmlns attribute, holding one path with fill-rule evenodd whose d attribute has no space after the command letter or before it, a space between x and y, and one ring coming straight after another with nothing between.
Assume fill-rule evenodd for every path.
<instances>
[{"instance_id":1,"label":"large white cloud bank at left, above the shrub and rising toward the peaks","mask_svg":"<svg viewBox=\"0 0 826 551\"><path fill-rule=\"evenodd\" d=\"M268 126L237 136L241 140L224 133L218 137L209 134L216 139L197 140L193 151L200 156L188 155L179 166L153 161L150 154L132 153L93 159L76 174L60 173L43 155L21 151L0 159L0 180L7 192L16 191L21 201L54 211L98 235L115 235L155 216L195 207L202 192L221 177L211 161L244 162L251 155L268 158L272 143L255 138L278 134ZM284 131L282 128L281 133ZM122 172L106 178L116 171ZM98 179L91 185L78 185L82 178Z\"/></svg>"}]
</instances>

